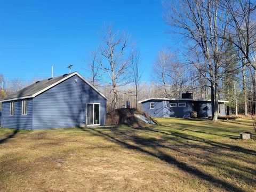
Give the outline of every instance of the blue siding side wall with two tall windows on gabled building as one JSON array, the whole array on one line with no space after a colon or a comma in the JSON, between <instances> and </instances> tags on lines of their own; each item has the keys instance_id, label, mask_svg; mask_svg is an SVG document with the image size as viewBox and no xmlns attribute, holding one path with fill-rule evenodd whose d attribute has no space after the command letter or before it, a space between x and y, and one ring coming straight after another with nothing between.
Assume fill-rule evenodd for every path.
<instances>
[{"instance_id":1,"label":"blue siding side wall with two tall windows on gabled building","mask_svg":"<svg viewBox=\"0 0 256 192\"><path fill-rule=\"evenodd\" d=\"M33 129L33 99L27 99L27 115L21 115L22 100L14 101L14 115L10 116L10 101L2 104L1 127L13 129Z\"/></svg>"}]
</instances>

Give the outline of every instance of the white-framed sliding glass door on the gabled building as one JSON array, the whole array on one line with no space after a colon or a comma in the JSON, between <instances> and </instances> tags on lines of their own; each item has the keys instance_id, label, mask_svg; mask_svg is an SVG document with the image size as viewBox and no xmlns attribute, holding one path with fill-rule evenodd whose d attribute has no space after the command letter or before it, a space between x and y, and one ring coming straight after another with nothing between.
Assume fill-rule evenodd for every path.
<instances>
[{"instance_id":1,"label":"white-framed sliding glass door on the gabled building","mask_svg":"<svg viewBox=\"0 0 256 192\"><path fill-rule=\"evenodd\" d=\"M100 125L100 103L87 103L87 125Z\"/></svg>"}]
</instances>

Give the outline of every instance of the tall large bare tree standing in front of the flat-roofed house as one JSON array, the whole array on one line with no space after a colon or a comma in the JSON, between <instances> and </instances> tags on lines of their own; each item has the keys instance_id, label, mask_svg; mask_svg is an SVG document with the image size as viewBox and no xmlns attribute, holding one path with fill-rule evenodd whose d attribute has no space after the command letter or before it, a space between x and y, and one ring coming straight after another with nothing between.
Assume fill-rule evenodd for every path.
<instances>
[{"instance_id":1,"label":"tall large bare tree standing in front of the flat-roofed house","mask_svg":"<svg viewBox=\"0 0 256 192\"><path fill-rule=\"evenodd\" d=\"M218 121L219 80L222 76L221 56L225 45L224 36L227 22L223 22L226 12L220 10L220 1L181 0L177 5L164 3L165 21L177 32L190 40L194 52L199 52L204 62L198 71L210 82L212 100L212 120ZM206 63L206 65L205 65Z\"/></svg>"}]
</instances>

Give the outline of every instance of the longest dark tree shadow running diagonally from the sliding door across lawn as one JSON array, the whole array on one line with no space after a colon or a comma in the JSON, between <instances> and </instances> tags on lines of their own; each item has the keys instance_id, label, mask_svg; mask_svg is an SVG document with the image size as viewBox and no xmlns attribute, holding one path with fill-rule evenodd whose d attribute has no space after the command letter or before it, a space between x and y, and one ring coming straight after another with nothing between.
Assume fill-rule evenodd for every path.
<instances>
[{"instance_id":1,"label":"longest dark tree shadow running diagonally from the sliding door across lawn","mask_svg":"<svg viewBox=\"0 0 256 192\"><path fill-rule=\"evenodd\" d=\"M202 180L213 183L213 185L215 185L219 188L223 188L223 189L226 189L228 191L230 191L230 190L231 191L242 191L242 192L245 191L241 188L238 188L238 187L234 186L231 183L228 183L224 180L215 178L215 177L213 177L213 175L204 173L203 171L200 171L200 170L196 169L195 167L189 166L186 163L178 161L175 157L164 153L162 150L159 150L158 147L161 147L161 145L157 146L157 143L155 141L154 141L154 143L152 143L152 144L155 145L155 146L153 145L153 148L155 149L155 152L152 152L152 151L149 151L147 149L142 148L142 147L144 147L143 145L145 145L145 144L147 145L148 143L150 143L148 141L143 141L143 139L138 139L138 138L136 139L136 138L133 138L132 136L130 136L130 140L135 142L135 145L126 142L125 139L123 139L123 140L118 139L116 136L118 134L121 135L122 133L120 133L120 132L118 133L119 130L116 129L116 128L106 130L106 131L111 131L112 133L114 133L114 136L111 135L111 134L108 134L108 133L104 133L103 131L91 128L91 127L81 128L81 129L83 131L90 132L93 135L97 135L97 136L100 136L100 137L104 137L107 140L114 141L115 143L118 143L118 145L124 146L128 149L137 150L137 151L140 151L141 153L154 156L158 159L161 159L162 161L164 161L166 163L175 165L176 167L178 167L182 171L186 171L190 174L195 175L198 178L201 178Z\"/></svg>"}]
</instances>

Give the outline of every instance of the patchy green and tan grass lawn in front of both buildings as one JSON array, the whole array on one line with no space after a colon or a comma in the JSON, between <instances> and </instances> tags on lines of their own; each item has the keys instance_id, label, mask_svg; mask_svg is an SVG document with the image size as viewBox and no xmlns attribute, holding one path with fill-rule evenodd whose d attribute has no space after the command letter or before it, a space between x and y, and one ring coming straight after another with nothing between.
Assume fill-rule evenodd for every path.
<instances>
[{"instance_id":1,"label":"patchy green and tan grass lawn in front of both buildings","mask_svg":"<svg viewBox=\"0 0 256 192\"><path fill-rule=\"evenodd\" d=\"M238 139L250 118L156 121L0 129L0 191L255 191L256 140Z\"/></svg>"}]
</instances>

